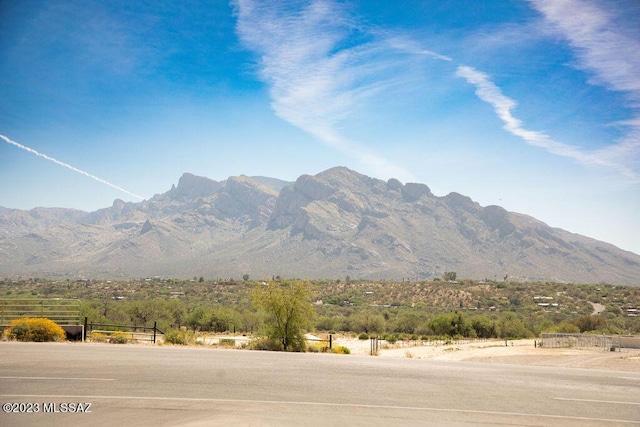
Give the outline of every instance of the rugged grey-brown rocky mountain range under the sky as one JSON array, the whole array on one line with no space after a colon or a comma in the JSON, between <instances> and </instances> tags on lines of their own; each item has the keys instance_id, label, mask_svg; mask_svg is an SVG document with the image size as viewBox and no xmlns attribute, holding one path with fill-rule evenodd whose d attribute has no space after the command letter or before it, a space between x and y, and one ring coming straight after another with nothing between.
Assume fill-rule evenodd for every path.
<instances>
[{"instance_id":1,"label":"rugged grey-brown rocky mountain range under the sky","mask_svg":"<svg viewBox=\"0 0 640 427\"><path fill-rule=\"evenodd\" d=\"M295 183L185 173L94 212L0 208L0 276L458 278L640 285L640 256L458 193L344 167Z\"/></svg>"}]
</instances>

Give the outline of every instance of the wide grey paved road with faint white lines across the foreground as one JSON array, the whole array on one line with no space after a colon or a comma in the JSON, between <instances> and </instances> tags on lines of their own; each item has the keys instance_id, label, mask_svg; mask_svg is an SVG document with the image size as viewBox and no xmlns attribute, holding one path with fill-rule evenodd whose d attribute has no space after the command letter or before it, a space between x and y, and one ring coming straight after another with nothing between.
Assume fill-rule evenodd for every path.
<instances>
[{"instance_id":1,"label":"wide grey paved road with faint white lines across the foreground","mask_svg":"<svg viewBox=\"0 0 640 427\"><path fill-rule=\"evenodd\" d=\"M640 374L354 355L0 343L0 403L10 402L39 404L40 412L0 413L2 426L640 425ZM72 408L63 403L81 403L90 412L51 412Z\"/></svg>"}]
</instances>

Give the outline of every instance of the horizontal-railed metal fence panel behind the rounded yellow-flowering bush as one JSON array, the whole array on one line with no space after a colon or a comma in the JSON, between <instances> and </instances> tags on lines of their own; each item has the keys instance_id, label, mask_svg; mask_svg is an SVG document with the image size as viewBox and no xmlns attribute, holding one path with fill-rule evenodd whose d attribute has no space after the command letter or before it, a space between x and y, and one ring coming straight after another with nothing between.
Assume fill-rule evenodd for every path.
<instances>
[{"instance_id":1,"label":"horizontal-railed metal fence panel behind the rounded yellow-flowering bush","mask_svg":"<svg viewBox=\"0 0 640 427\"><path fill-rule=\"evenodd\" d=\"M79 299L16 298L0 300L0 325L22 317L47 318L59 325L81 325Z\"/></svg>"}]
</instances>

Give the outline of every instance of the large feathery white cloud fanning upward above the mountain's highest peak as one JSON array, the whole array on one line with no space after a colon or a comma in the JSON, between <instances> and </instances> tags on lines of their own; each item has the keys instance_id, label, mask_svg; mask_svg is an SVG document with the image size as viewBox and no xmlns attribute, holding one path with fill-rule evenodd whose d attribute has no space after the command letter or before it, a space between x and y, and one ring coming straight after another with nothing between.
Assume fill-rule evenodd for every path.
<instances>
[{"instance_id":1,"label":"large feathery white cloud fanning upward above the mountain's highest peak","mask_svg":"<svg viewBox=\"0 0 640 427\"><path fill-rule=\"evenodd\" d=\"M339 125L374 95L402 84L408 51L449 58L401 38L363 30L332 1L304 2L292 11L291 4L284 8L275 2L238 0L235 10L238 35L259 54L259 73L280 118L379 174L411 176L345 138Z\"/></svg>"}]
</instances>

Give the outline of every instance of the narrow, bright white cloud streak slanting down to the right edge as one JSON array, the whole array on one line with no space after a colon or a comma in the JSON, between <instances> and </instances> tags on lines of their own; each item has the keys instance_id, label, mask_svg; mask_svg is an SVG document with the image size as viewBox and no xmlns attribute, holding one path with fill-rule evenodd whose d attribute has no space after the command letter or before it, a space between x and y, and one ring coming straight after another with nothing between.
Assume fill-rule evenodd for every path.
<instances>
[{"instance_id":1,"label":"narrow, bright white cloud streak slanting down to the right edge","mask_svg":"<svg viewBox=\"0 0 640 427\"><path fill-rule=\"evenodd\" d=\"M456 75L464 78L476 87L476 95L484 102L491 105L496 115L504 123L504 129L509 133L522 138L528 144L540 147L552 154L569 157L583 164L604 166L618 170L620 173L632 179L638 179L637 174L629 167L610 159L602 150L588 153L578 147L563 144L552 140L543 132L526 129L522 122L516 118L512 111L516 102L504 95L485 73L472 67L459 66Z\"/></svg>"}]
</instances>

